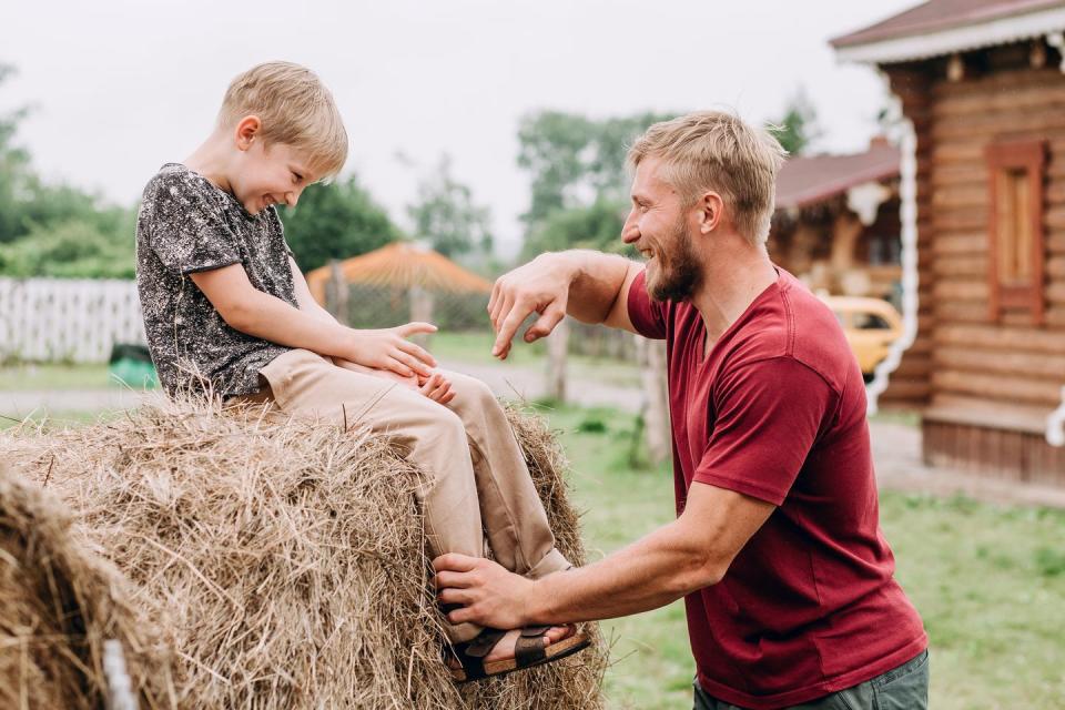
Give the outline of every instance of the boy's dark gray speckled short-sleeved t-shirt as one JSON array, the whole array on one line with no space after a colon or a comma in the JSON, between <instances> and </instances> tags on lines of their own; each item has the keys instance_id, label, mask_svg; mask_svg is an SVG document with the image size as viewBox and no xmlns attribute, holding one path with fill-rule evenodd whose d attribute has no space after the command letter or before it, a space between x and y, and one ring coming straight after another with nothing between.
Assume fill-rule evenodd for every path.
<instances>
[{"instance_id":1,"label":"boy's dark gray speckled short-sleeved t-shirt","mask_svg":"<svg viewBox=\"0 0 1065 710\"><path fill-rule=\"evenodd\" d=\"M216 395L258 392L258 371L288 351L236 331L189 274L242 264L252 285L298 307L291 250L273 206L251 215L227 192L178 163L144 187L136 219L136 287L159 378Z\"/></svg>"}]
</instances>

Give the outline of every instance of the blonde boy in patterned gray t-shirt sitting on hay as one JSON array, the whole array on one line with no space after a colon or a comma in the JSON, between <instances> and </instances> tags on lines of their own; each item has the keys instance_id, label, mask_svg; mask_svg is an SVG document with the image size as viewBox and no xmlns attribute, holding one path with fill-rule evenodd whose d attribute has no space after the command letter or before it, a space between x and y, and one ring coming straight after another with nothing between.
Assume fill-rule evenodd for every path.
<instances>
[{"instance_id":1,"label":"blonde boy in patterned gray t-shirt sitting on hay","mask_svg":"<svg viewBox=\"0 0 1065 710\"><path fill-rule=\"evenodd\" d=\"M407 339L434 326L356 331L311 296L274 205L294 206L346 158L328 90L303 67L271 62L237 77L203 145L152 178L138 216L136 281L162 384L387 432L429 479L419 498L433 557L480 556L487 532L498 561L518 574L567 569L499 403L483 383L435 371ZM446 631L459 680L587 646L569 627Z\"/></svg>"}]
</instances>

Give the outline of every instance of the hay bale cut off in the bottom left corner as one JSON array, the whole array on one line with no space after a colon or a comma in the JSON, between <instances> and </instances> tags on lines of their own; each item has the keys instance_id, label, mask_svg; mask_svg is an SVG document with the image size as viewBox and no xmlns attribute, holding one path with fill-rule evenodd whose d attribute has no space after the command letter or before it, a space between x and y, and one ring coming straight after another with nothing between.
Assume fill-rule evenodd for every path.
<instances>
[{"instance_id":1,"label":"hay bale cut off in the bottom left corner","mask_svg":"<svg viewBox=\"0 0 1065 710\"><path fill-rule=\"evenodd\" d=\"M58 497L0 467L0 707L103 708L104 646L115 640L132 690L161 706L169 663L130 591Z\"/></svg>"}]
</instances>

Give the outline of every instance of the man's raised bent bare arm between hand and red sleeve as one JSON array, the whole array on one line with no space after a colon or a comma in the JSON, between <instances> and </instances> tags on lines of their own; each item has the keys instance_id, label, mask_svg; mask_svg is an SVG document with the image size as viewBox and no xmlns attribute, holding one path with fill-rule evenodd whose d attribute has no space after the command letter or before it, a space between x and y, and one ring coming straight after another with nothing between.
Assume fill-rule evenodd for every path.
<instances>
[{"instance_id":1,"label":"man's raised bent bare arm between hand and red sleeve","mask_svg":"<svg viewBox=\"0 0 1065 710\"><path fill-rule=\"evenodd\" d=\"M617 254L570 250L544 254L551 268L569 277L566 313L584 323L602 323L621 297L621 287L631 262Z\"/></svg>"}]
</instances>

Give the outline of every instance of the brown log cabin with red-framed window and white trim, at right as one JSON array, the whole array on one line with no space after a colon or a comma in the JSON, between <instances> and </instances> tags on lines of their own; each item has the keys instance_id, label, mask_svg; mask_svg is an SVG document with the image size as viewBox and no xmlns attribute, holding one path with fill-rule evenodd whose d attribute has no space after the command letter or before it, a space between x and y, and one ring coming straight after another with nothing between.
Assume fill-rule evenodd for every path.
<instances>
[{"instance_id":1,"label":"brown log cabin with red-framed window and white trim, at right","mask_svg":"<svg viewBox=\"0 0 1065 710\"><path fill-rule=\"evenodd\" d=\"M900 113L906 335L872 408L927 463L1065 486L1065 2L931 0L831 40Z\"/></svg>"}]
</instances>

